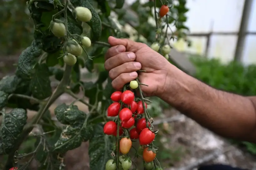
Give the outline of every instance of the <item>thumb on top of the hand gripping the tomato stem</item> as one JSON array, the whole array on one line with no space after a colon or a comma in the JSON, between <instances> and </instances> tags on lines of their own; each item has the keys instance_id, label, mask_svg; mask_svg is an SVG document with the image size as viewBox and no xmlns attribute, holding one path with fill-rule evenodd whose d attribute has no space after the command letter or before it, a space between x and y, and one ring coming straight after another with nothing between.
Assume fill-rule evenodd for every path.
<instances>
[{"instance_id":1,"label":"thumb on top of the hand gripping the tomato stem","mask_svg":"<svg viewBox=\"0 0 256 170\"><path fill-rule=\"evenodd\" d=\"M140 50L143 45L142 43L138 43L129 39L120 39L120 38L115 38L113 36L108 37L108 43L111 46L124 45L126 47L126 51L130 51L134 53Z\"/></svg>"}]
</instances>

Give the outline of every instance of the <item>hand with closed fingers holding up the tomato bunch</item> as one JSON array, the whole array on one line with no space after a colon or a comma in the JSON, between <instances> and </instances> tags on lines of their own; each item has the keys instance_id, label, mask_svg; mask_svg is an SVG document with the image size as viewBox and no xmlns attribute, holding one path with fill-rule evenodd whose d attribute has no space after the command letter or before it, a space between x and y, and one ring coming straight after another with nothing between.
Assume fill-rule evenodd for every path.
<instances>
[{"instance_id":1,"label":"hand with closed fingers holding up the tomato bunch","mask_svg":"<svg viewBox=\"0 0 256 170\"><path fill-rule=\"evenodd\" d=\"M140 78L141 86L146 96L160 96L165 91L166 78L174 65L161 54L152 50L148 45L128 39L108 39L112 46L105 55L105 69L113 80L116 90L130 81ZM146 72L136 71L145 70Z\"/></svg>"}]
</instances>

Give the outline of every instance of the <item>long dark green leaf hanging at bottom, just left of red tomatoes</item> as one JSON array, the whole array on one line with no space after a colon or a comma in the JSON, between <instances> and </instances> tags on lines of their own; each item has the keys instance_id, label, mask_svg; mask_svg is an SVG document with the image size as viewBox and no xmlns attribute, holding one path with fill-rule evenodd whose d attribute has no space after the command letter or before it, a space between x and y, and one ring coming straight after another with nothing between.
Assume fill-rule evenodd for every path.
<instances>
[{"instance_id":1,"label":"long dark green leaf hanging at bottom, just left of red tomatoes","mask_svg":"<svg viewBox=\"0 0 256 170\"><path fill-rule=\"evenodd\" d=\"M101 125L95 125L94 136L89 142L90 169L105 170L106 162L111 158L111 152L110 136L103 133Z\"/></svg>"}]
</instances>

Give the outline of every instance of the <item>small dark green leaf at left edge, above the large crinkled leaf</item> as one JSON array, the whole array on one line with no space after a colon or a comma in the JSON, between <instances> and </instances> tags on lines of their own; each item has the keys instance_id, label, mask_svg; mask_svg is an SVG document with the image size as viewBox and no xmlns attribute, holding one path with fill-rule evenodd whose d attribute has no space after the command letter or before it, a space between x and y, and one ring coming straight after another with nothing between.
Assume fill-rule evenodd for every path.
<instances>
[{"instance_id":1,"label":"small dark green leaf at left edge, above the large crinkled leaf","mask_svg":"<svg viewBox=\"0 0 256 170\"><path fill-rule=\"evenodd\" d=\"M0 81L0 91L11 94L15 92L20 82L21 82L21 79L18 78L16 75L5 76Z\"/></svg>"}]
</instances>

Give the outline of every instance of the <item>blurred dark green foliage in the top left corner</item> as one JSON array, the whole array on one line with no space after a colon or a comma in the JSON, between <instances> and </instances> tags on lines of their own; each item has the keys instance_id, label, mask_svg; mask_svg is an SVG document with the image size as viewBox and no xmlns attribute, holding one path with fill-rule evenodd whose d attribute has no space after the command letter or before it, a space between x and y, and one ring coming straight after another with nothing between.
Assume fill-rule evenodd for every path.
<instances>
[{"instance_id":1,"label":"blurred dark green foliage in the top left corner","mask_svg":"<svg viewBox=\"0 0 256 170\"><path fill-rule=\"evenodd\" d=\"M2 55L15 54L31 44L33 21L24 0L0 0L0 50Z\"/></svg>"}]
</instances>

